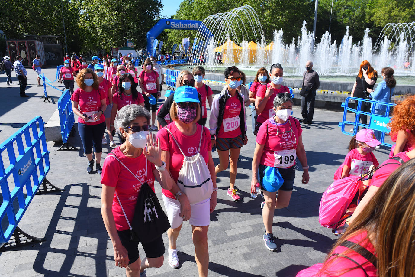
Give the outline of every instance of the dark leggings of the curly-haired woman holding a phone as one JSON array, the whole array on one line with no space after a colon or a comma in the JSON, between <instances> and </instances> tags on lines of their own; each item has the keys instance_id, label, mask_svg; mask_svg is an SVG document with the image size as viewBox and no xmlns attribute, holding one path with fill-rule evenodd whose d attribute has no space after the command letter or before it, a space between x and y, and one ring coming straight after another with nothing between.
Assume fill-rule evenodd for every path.
<instances>
[{"instance_id":1,"label":"dark leggings of the curly-haired woman holding a phone","mask_svg":"<svg viewBox=\"0 0 415 277\"><path fill-rule=\"evenodd\" d=\"M78 132L82 140L85 155L92 153L92 146L94 147L95 153L103 152L102 141L105 132L105 121L95 125L78 122Z\"/></svg>"}]
</instances>

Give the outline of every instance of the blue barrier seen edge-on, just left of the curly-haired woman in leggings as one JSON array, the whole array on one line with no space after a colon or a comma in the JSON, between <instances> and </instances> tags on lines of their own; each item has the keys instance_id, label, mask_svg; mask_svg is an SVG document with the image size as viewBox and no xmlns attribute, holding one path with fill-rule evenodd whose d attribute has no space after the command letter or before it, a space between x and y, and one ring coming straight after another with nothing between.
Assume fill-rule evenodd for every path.
<instances>
[{"instance_id":1,"label":"blue barrier seen edge-on, just left of the curly-haired woman in leggings","mask_svg":"<svg viewBox=\"0 0 415 277\"><path fill-rule=\"evenodd\" d=\"M58 150L79 151L68 141L69 135L74 134L73 125L75 124L75 114L72 109L71 94L65 90L58 99L59 122L61 123L62 146Z\"/></svg>"}]
</instances>

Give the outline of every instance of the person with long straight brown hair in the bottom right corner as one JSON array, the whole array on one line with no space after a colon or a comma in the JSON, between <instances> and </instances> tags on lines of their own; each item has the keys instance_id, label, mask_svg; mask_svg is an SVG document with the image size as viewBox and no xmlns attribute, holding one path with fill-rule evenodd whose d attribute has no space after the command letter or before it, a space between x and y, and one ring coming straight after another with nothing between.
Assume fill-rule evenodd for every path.
<instances>
[{"instance_id":1,"label":"person with long straight brown hair in the bottom right corner","mask_svg":"<svg viewBox=\"0 0 415 277\"><path fill-rule=\"evenodd\" d=\"M415 159L395 170L337 240L325 262L300 271L297 277L414 276L413 172Z\"/></svg>"}]
</instances>

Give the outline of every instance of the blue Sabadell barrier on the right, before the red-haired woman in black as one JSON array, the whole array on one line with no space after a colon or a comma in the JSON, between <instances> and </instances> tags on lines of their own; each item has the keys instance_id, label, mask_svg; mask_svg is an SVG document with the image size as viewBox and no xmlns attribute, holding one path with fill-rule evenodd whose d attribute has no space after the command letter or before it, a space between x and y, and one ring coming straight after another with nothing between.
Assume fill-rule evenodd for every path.
<instances>
[{"instance_id":1,"label":"blue Sabadell barrier on the right, before the red-haired woman in black","mask_svg":"<svg viewBox=\"0 0 415 277\"><path fill-rule=\"evenodd\" d=\"M362 103L370 103L372 108L369 112L361 110ZM357 104L357 105L356 105ZM375 105L383 105L384 114L375 113ZM381 142L381 145L392 147L392 144L385 142L386 135L389 134L390 128L387 126L391 120L391 108L395 106L394 103L384 103L378 102L369 99L347 97L346 100L342 103L344 107L343 112L343 121L339 122L339 127L342 129L342 133L350 136L354 136L357 133L357 129L367 128L374 131L378 131L377 139ZM356 108L355 108L356 107ZM349 112L349 115L348 115ZM354 115L354 120L348 120L347 117L352 117ZM359 119L361 115L367 115L368 124L360 123ZM352 132L353 130L353 132Z\"/></svg>"}]
</instances>

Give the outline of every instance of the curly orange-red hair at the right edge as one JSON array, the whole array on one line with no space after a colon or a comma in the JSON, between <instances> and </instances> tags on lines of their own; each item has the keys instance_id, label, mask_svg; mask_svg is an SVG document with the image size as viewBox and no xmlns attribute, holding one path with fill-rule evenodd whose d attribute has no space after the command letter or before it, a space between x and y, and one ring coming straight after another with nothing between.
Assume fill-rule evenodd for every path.
<instances>
[{"instance_id":1,"label":"curly orange-red hair at the right edge","mask_svg":"<svg viewBox=\"0 0 415 277\"><path fill-rule=\"evenodd\" d=\"M400 130L408 130L415 137L415 95L408 95L403 101L396 103L388 126L391 127L391 136L398 134Z\"/></svg>"}]
</instances>

